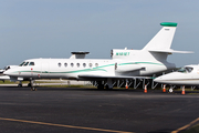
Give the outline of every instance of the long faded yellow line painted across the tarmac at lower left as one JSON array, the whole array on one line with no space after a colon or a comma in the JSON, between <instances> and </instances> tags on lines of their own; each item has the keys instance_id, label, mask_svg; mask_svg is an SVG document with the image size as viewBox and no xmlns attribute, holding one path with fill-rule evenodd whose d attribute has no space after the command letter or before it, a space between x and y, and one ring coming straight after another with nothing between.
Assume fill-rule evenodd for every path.
<instances>
[{"instance_id":1,"label":"long faded yellow line painted across the tarmac at lower left","mask_svg":"<svg viewBox=\"0 0 199 133\"><path fill-rule=\"evenodd\" d=\"M52 126L61 126L61 127L71 127L71 129L78 129L78 130L103 131L103 132L112 132L112 133L134 133L134 132L125 132L125 131L105 130L105 129L96 129L96 127L84 127L84 126L54 124L54 123L46 123L46 122L36 122L36 121L27 121L27 120L17 120L17 119L6 119L6 117L0 117L0 120L12 121L12 122L32 123L32 124L42 124L42 125L52 125Z\"/></svg>"}]
</instances>

